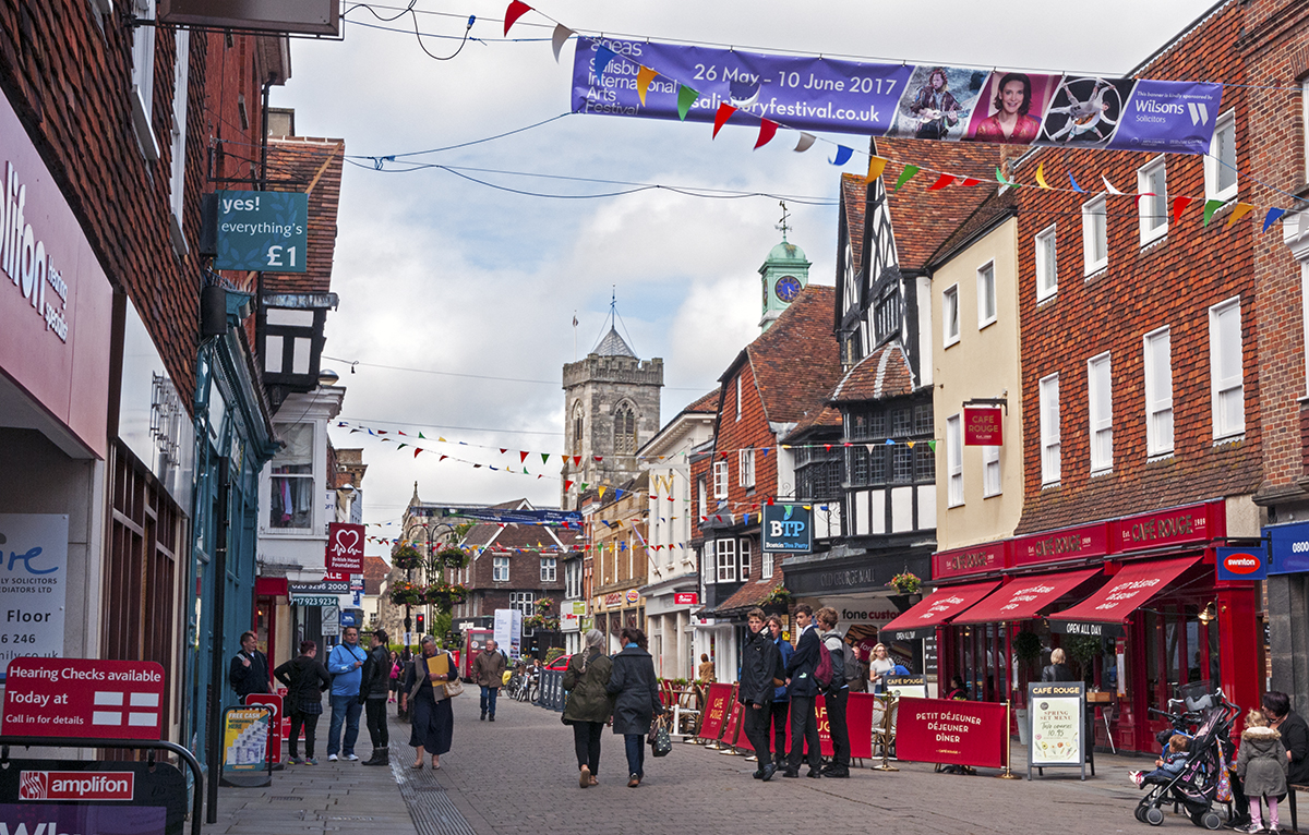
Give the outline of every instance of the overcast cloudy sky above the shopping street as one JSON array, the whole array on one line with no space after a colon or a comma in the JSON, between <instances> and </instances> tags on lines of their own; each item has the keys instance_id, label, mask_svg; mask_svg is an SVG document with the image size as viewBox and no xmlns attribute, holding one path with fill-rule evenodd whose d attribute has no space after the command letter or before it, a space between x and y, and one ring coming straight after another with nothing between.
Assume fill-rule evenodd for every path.
<instances>
[{"instance_id":1,"label":"overcast cloudy sky above the shopping street","mask_svg":"<svg viewBox=\"0 0 1309 835\"><path fill-rule=\"evenodd\" d=\"M471 34L486 42L470 42L445 62L420 51L410 16L384 24L356 8L348 21L407 34L347 22L343 42L293 41L292 79L274 88L272 105L296 110L301 136L344 139L347 154L355 157L457 145L568 113L575 41L556 64L548 41L552 24L529 12L511 35L542 41L503 42L507 5L507 0L419 0L421 12L457 16L419 14L427 33L459 35L466 16L478 16ZM1210 4L1093 0L1056 9L1035 1L542 0L537 5L588 34L963 67L1123 73ZM397 13L374 8L384 16ZM424 43L441 56L458 46L457 39ZM711 141L706 124L567 115L514 136L410 160L812 198L826 204L789 204L789 238L813 262L810 280L833 284L839 174L860 173L867 157L856 154L838 169L827 162L830 145L795 153L795 135L785 133L751 151L755 132L729 124ZM830 137L868 147L861 137ZM640 357L664 359L662 420L712 389L759 332L757 271L780 240L775 198L712 200L669 191L541 198L444 170L390 173L364 165L347 165L344 173L332 276L340 309L327 318L325 351L359 365L351 374L344 361L323 361L348 387L343 419L507 448L508 455L473 446L440 449L499 467L517 463L518 450L562 450L562 366L602 336L614 288L623 336ZM617 190L470 175L558 195ZM545 466L539 455L534 466L528 461L533 474L547 474L537 479L475 470L453 459L439 463L436 454L415 458L408 449L397 452L393 444L346 429L334 428L331 435L339 448L364 448L368 522L397 521L415 480L425 501L491 504L526 496L554 505L559 500L554 454ZM369 534L389 531L369 529ZM370 544L368 552L386 551Z\"/></svg>"}]
</instances>

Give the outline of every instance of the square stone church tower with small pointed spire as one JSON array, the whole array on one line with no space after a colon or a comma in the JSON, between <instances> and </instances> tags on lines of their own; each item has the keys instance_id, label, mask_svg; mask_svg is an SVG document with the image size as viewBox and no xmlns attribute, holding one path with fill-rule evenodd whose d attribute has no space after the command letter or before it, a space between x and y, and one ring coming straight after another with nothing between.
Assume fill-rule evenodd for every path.
<instances>
[{"instance_id":1,"label":"square stone church tower with small pointed spire","mask_svg":"<svg viewBox=\"0 0 1309 835\"><path fill-rule=\"evenodd\" d=\"M640 474L636 450L658 432L662 386L664 360L639 360L613 326L585 359L564 365L560 508L577 508L583 484L617 487Z\"/></svg>"}]
</instances>

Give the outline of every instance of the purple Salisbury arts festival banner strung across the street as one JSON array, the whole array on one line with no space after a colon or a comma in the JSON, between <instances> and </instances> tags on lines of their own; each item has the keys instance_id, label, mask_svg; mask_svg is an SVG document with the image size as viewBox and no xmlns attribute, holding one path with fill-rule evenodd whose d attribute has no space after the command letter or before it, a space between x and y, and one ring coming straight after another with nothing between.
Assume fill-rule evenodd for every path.
<instances>
[{"instance_id":1,"label":"purple Salisbury arts festival banner strung across the street","mask_svg":"<svg viewBox=\"0 0 1309 835\"><path fill-rule=\"evenodd\" d=\"M641 67L658 73L644 103ZM686 113L691 122L713 122L719 105L728 103L800 131L1173 153L1210 149L1223 96L1221 85L1192 81L577 41L573 113L679 119L683 86L698 93Z\"/></svg>"}]
</instances>

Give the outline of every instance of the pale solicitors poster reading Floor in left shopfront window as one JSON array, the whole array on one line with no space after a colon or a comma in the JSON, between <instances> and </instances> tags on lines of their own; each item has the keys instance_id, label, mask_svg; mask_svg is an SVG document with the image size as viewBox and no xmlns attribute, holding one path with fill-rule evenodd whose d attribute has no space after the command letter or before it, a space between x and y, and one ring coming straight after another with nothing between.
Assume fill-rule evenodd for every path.
<instances>
[{"instance_id":1,"label":"pale solicitors poster reading Floor in left shopfront window","mask_svg":"<svg viewBox=\"0 0 1309 835\"><path fill-rule=\"evenodd\" d=\"M0 513L0 681L20 656L64 654L68 516Z\"/></svg>"}]
</instances>

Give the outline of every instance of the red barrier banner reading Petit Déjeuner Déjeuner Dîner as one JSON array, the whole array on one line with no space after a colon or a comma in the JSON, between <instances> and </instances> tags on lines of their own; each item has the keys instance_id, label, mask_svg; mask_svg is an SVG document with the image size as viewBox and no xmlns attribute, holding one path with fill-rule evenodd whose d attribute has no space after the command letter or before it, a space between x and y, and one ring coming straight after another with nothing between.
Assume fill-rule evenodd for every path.
<instances>
[{"instance_id":1,"label":"red barrier banner reading Petit D\u00e9jeuner D\u00e9jeuner D\u00eener","mask_svg":"<svg viewBox=\"0 0 1309 835\"><path fill-rule=\"evenodd\" d=\"M1003 768L1009 725L1003 704L901 699L895 756L919 763Z\"/></svg>"}]
</instances>

